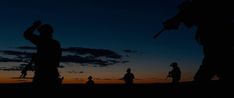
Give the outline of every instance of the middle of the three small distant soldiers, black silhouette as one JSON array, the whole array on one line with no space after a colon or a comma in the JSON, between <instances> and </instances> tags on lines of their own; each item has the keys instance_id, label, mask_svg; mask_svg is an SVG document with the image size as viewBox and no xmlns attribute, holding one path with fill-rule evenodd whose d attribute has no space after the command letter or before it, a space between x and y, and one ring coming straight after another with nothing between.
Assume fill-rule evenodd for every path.
<instances>
[{"instance_id":1,"label":"middle of the three small distant soldiers, black silhouette","mask_svg":"<svg viewBox=\"0 0 234 98\"><path fill-rule=\"evenodd\" d=\"M124 75L123 80L125 81L125 86L127 88L132 87L133 85L133 79L135 78L134 74L131 73L131 69L127 69L127 73Z\"/></svg>"}]
</instances>

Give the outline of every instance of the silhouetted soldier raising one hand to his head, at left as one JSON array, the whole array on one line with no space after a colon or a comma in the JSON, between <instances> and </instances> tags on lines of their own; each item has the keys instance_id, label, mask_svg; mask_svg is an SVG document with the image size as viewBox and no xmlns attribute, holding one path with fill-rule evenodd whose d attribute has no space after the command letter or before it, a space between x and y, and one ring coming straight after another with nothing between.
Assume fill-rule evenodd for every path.
<instances>
[{"instance_id":1,"label":"silhouetted soldier raising one hand to his head, at left","mask_svg":"<svg viewBox=\"0 0 234 98\"><path fill-rule=\"evenodd\" d=\"M39 35L33 32L37 30ZM60 43L52 38L53 28L49 24L36 21L24 32L25 39L37 47L35 60L35 74L33 85L35 88L54 89L59 85L58 66L62 54Z\"/></svg>"}]
</instances>

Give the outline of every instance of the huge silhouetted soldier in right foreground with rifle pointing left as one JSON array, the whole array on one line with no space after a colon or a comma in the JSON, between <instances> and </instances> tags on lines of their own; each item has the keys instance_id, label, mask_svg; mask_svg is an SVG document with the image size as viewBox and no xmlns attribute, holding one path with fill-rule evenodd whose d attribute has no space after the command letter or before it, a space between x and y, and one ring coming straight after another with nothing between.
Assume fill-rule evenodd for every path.
<instances>
[{"instance_id":1,"label":"huge silhouetted soldier in right foreground with rifle pointing left","mask_svg":"<svg viewBox=\"0 0 234 98\"><path fill-rule=\"evenodd\" d=\"M178 29L181 23L197 27L196 40L203 46L204 58L194 81L208 82L215 75L220 80L232 80L233 8L230 0L185 0L177 15L164 22L163 30Z\"/></svg>"}]
</instances>

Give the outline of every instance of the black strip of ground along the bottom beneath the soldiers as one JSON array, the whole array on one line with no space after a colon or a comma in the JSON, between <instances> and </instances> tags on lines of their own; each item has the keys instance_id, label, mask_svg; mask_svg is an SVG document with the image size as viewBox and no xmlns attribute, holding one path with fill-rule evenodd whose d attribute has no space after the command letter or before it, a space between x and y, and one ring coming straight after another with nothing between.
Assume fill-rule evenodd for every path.
<instances>
[{"instance_id":1,"label":"black strip of ground along the bottom beneath the soldiers","mask_svg":"<svg viewBox=\"0 0 234 98\"><path fill-rule=\"evenodd\" d=\"M84 84L63 84L56 91L34 91L30 84L0 84L0 97L53 97L53 98L230 98L232 86L223 85L217 81L207 84L184 82L178 85L162 84L135 84L131 89L122 84L96 84L93 89L88 89ZM233 92L234 93L234 92ZM233 98L233 97L231 97Z\"/></svg>"}]
</instances>

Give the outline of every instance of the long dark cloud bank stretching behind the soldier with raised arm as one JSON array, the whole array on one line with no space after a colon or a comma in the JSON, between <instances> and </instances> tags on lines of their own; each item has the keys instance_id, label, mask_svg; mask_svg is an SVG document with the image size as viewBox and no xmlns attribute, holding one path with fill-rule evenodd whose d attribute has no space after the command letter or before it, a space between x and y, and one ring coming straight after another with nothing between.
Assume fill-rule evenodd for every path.
<instances>
[{"instance_id":1,"label":"long dark cloud bank stretching behind the soldier with raised arm","mask_svg":"<svg viewBox=\"0 0 234 98\"><path fill-rule=\"evenodd\" d=\"M33 54L32 50L36 50L36 47L20 46L16 50L0 50L0 53L4 55L14 56L13 58L0 57L0 62L28 62ZM128 62L127 60L123 60L122 55L107 49L70 47L63 48L62 51L62 63L80 63L79 65L93 64L99 67L105 67Z\"/></svg>"}]
</instances>

